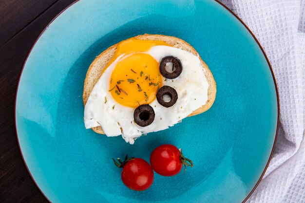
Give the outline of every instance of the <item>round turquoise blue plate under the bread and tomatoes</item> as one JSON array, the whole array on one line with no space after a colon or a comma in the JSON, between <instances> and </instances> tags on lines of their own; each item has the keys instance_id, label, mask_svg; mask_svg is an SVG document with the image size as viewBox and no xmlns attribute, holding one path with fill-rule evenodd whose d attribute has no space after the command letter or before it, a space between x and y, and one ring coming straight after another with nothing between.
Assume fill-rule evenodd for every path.
<instances>
[{"instance_id":1,"label":"round turquoise blue plate under the bread and tomatoes","mask_svg":"<svg viewBox=\"0 0 305 203\"><path fill-rule=\"evenodd\" d=\"M134 145L83 123L87 69L107 47L149 33L182 38L210 67L214 105ZM29 54L16 98L20 149L36 184L54 203L238 203L266 170L276 140L278 102L270 64L245 25L214 0L80 0L47 27ZM155 174L136 192L112 157L149 160L161 144L183 148L195 166Z\"/></svg>"}]
</instances>

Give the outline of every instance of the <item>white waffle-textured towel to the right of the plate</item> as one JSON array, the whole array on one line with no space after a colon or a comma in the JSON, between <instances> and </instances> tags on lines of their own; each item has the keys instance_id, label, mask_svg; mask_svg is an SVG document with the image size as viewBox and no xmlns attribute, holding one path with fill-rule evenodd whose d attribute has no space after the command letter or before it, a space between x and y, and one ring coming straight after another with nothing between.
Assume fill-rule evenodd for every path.
<instances>
[{"instance_id":1,"label":"white waffle-textured towel to the right of the plate","mask_svg":"<svg viewBox=\"0 0 305 203\"><path fill-rule=\"evenodd\" d=\"M280 97L276 148L247 203L305 203L305 0L220 1L263 46Z\"/></svg>"}]
</instances>

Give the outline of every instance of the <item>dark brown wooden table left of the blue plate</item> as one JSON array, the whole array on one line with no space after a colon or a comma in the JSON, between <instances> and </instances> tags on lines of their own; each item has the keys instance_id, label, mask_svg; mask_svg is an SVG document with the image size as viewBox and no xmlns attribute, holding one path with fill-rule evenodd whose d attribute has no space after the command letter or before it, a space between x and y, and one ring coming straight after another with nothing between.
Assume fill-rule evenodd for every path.
<instances>
[{"instance_id":1,"label":"dark brown wooden table left of the blue plate","mask_svg":"<svg viewBox=\"0 0 305 203\"><path fill-rule=\"evenodd\" d=\"M14 100L24 60L39 34L75 0L0 0L0 203L47 203L23 164Z\"/></svg>"}]
</instances>

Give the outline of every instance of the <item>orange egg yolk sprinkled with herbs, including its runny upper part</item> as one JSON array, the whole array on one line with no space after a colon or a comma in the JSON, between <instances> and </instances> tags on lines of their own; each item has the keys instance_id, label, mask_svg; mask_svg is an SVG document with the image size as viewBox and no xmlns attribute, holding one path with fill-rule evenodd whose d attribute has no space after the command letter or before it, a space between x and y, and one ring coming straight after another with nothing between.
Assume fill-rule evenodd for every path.
<instances>
[{"instance_id":1,"label":"orange egg yolk sprinkled with herbs, including its runny upper part","mask_svg":"<svg viewBox=\"0 0 305 203\"><path fill-rule=\"evenodd\" d=\"M110 77L110 92L116 102L123 106L136 108L149 104L156 98L162 87L159 63L149 54L152 46L166 45L164 41L150 41L130 38L120 42L111 64L119 55L128 55L115 65Z\"/></svg>"}]
</instances>

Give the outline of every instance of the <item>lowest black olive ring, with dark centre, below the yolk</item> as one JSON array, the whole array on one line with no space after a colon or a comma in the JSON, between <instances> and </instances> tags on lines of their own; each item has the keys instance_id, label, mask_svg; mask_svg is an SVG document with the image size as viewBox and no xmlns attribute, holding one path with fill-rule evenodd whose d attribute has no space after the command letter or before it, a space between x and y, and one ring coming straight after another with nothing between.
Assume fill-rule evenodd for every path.
<instances>
[{"instance_id":1,"label":"lowest black olive ring, with dark centre, below the yolk","mask_svg":"<svg viewBox=\"0 0 305 203\"><path fill-rule=\"evenodd\" d=\"M154 115L152 107L148 104L143 104L134 110L133 119L137 125L145 127L152 124Z\"/></svg>"}]
</instances>

